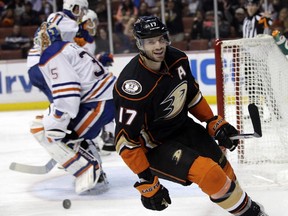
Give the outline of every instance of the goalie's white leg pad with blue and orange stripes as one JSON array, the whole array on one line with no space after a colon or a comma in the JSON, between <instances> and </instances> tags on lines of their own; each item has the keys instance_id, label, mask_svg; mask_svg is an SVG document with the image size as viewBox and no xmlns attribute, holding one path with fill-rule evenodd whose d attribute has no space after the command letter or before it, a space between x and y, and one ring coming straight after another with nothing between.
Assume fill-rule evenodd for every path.
<instances>
[{"instance_id":1,"label":"goalie's white leg pad with blue and orange stripes","mask_svg":"<svg viewBox=\"0 0 288 216\"><path fill-rule=\"evenodd\" d=\"M67 143L51 143L44 136L42 118L39 116L32 122L31 133L57 163L76 177L77 194L93 189L101 176L105 178L100 156L92 141L77 139Z\"/></svg>"}]
</instances>

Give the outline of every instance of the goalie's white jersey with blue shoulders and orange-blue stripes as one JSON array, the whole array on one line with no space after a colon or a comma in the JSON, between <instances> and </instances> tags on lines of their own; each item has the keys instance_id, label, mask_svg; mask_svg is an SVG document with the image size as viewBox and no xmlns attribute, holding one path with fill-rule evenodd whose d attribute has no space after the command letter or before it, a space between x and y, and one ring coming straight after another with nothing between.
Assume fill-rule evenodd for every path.
<instances>
[{"instance_id":1,"label":"goalie's white jersey with blue shoulders and orange-blue stripes","mask_svg":"<svg viewBox=\"0 0 288 216\"><path fill-rule=\"evenodd\" d=\"M41 55L39 68L53 103L74 118L80 103L112 99L116 77L75 43L56 41Z\"/></svg>"}]
</instances>

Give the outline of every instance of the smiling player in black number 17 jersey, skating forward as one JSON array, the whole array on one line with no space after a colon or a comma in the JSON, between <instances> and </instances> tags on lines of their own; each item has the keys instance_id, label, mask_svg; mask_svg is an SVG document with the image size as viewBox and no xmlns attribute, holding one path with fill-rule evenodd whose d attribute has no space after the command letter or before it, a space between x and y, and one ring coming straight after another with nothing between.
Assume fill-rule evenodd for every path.
<instances>
[{"instance_id":1,"label":"smiling player in black number 17 jersey, skating forward","mask_svg":"<svg viewBox=\"0 0 288 216\"><path fill-rule=\"evenodd\" d=\"M168 30L157 17L134 24L139 54L120 73L116 105L116 150L139 177L134 187L142 204L163 210L171 204L164 178L199 185L212 202L234 215L265 216L241 189L220 146L234 150L237 130L214 116L192 76L187 55L170 46ZM206 129L188 116L192 114ZM193 208L193 207L191 207Z\"/></svg>"}]
</instances>

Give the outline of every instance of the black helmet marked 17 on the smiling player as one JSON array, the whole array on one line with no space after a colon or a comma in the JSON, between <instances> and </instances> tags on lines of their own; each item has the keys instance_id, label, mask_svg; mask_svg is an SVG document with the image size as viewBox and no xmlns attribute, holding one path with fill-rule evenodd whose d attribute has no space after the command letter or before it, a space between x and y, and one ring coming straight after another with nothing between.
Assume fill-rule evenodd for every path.
<instances>
[{"instance_id":1,"label":"black helmet marked 17 on the smiling player","mask_svg":"<svg viewBox=\"0 0 288 216\"><path fill-rule=\"evenodd\" d=\"M167 41L167 46L171 44L166 25L155 16L140 17L134 24L133 34L136 39L136 45L142 54L145 53L143 47L144 39L163 36Z\"/></svg>"}]
</instances>

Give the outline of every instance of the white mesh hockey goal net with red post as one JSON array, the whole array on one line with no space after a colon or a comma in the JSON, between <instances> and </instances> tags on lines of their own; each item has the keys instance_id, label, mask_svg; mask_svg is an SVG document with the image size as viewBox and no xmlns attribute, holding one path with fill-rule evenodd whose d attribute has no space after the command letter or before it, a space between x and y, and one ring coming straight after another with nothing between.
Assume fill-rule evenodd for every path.
<instances>
[{"instance_id":1,"label":"white mesh hockey goal net with red post","mask_svg":"<svg viewBox=\"0 0 288 216\"><path fill-rule=\"evenodd\" d=\"M253 133L247 107L255 103L263 134L240 140L238 149L227 157L232 163L253 167L252 172L268 173L271 165L288 180L287 58L268 35L217 41L215 58L218 113L240 133ZM279 176L263 178L275 182Z\"/></svg>"}]
</instances>

